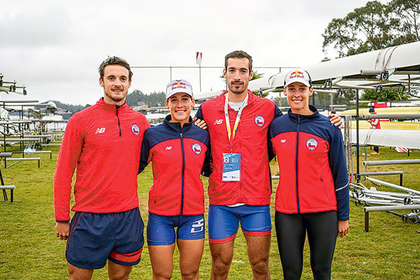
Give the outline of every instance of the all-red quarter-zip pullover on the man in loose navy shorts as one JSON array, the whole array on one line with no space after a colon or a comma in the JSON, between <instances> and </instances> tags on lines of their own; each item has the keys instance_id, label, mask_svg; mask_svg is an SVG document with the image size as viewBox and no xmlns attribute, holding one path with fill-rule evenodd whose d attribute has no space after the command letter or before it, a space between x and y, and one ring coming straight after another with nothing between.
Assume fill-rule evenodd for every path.
<instances>
[{"instance_id":1,"label":"all-red quarter-zip pullover on the man in loose navy shorts","mask_svg":"<svg viewBox=\"0 0 420 280\"><path fill-rule=\"evenodd\" d=\"M116 213L139 206L137 172L146 117L122 106L97 104L75 113L66 126L54 175L55 219L69 221L71 177L76 169L71 210Z\"/></svg>"}]
</instances>

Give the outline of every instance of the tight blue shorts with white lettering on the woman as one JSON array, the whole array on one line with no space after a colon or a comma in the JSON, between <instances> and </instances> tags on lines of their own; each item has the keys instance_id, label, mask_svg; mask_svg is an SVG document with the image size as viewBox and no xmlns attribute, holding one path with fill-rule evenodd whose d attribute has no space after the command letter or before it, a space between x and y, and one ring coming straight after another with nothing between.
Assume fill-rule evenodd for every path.
<instances>
[{"instance_id":1,"label":"tight blue shorts with white lettering on the woman","mask_svg":"<svg viewBox=\"0 0 420 280\"><path fill-rule=\"evenodd\" d=\"M176 234L175 234L175 228ZM161 216L149 213L147 222L147 244L171 245L175 239L197 240L205 235L204 215Z\"/></svg>"}]
</instances>

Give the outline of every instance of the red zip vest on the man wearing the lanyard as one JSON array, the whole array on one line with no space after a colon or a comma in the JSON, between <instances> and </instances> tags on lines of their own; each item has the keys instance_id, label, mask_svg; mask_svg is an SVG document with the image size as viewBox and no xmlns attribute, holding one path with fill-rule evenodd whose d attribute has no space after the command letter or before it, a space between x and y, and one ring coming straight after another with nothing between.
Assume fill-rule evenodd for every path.
<instances>
[{"instance_id":1,"label":"red zip vest on the man wearing the lanyard","mask_svg":"<svg viewBox=\"0 0 420 280\"><path fill-rule=\"evenodd\" d=\"M210 134L211 158L214 169L209 178L211 204L230 205L239 202L248 205L268 205L272 193L267 151L267 132L274 117L281 116L279 108L269 99L248 91L248 105L242 111L233 153L241 154L241 181L224 182L223 153L230 153L230 141L225 125L225 92L204 102L197 118L205 120ZM228 108L230 127L233 129L237 112Z\"/></svg>"}]
</instances>

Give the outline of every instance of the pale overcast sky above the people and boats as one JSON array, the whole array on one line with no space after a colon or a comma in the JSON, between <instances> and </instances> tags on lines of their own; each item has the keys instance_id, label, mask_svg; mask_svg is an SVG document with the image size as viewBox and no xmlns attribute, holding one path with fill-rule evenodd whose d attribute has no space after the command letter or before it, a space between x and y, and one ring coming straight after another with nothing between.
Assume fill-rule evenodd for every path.
<instances>
[{"instance_id":1,"label":"pale overcast sky above the people and boats","mask_svg":"<svg viewBox=\"0 0 420 280\"><path fill-rule=\"evenodd\" d=\"M323 33L367 1L7 1L0 9L0 73L27 96L0 99L93 104L103 96L97 68L108 56L131 66L223 67L245 50L254 66L304 66L325 57ZM386 1L381 1L386 3ZM334 57L335 53L328 53ZM269 76L277 70L259 69ZM165 90L169 69L133 69L133 90ZM221 90L221 69L202 69L202 90ZM200 89L198 69L172 69Z\"/></svg>"}]
</instances>

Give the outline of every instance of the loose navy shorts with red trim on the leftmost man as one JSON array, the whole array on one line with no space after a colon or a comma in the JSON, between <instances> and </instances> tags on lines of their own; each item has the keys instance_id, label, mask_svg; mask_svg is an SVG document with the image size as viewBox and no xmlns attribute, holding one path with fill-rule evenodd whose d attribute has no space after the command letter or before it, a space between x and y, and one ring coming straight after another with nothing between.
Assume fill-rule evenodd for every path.
<instances>
[{"instance_id":1,"label":"loose navy shorts with red trim on the leftmost man","mask_svg":"<svg viewBox=\"0 0 420 280\"><path fill-rule=\"evenodd\" d=\"M143 230L139 208L110 214L76 212L71 220L66 259L85 269L104 267L106 260L137 265L144 245Z\"/></svg>"}]
</instances>

